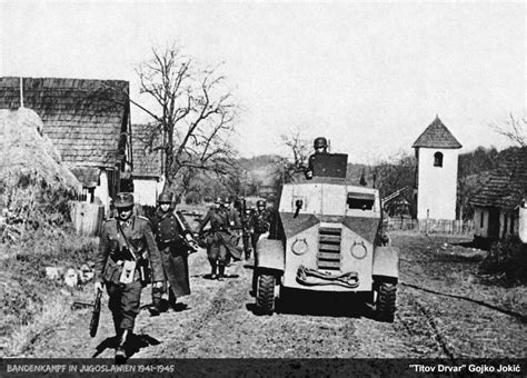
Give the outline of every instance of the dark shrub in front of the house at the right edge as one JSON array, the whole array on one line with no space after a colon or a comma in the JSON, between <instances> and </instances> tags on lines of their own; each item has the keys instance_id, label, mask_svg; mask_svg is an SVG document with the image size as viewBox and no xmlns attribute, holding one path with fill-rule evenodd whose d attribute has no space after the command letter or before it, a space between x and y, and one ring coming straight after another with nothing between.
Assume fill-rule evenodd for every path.
<instances>
[{"instance_id":1,"label":"dark shrub in front of the house at the right edge","mask_svg":"<svg viewBox=\"0 0 527 378\"><path fill-rule=\"evenodd\" d=\"M479 270L504 273L509 284L527 284L527 246L516 236L495 242Z\"/></svg>"}]
</instances>

